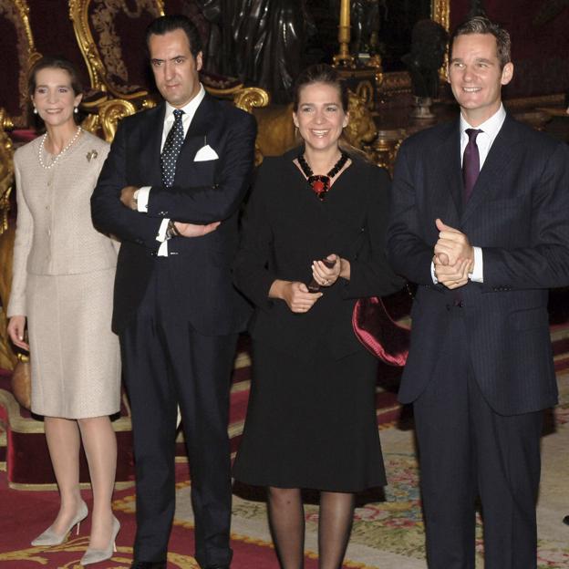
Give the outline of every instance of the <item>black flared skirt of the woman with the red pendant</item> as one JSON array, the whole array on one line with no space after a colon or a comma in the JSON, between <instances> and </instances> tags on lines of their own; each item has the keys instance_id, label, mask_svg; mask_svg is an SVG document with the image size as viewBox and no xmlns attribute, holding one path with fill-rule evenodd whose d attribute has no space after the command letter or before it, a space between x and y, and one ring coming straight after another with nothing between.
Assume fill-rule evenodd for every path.
<instances>
[{"instance_id":1,"label":"black flared skirt of the woman with the red pendant","mask_svg":"<svg viewBox=\"0 0 569 569\"><path fill-rule=\"evenodd\" d=\"M362 491L386 484L378 362L362 348L310 360L253 341L253 381L233 468L247 484Z\"/></svg>"}]
</instances>

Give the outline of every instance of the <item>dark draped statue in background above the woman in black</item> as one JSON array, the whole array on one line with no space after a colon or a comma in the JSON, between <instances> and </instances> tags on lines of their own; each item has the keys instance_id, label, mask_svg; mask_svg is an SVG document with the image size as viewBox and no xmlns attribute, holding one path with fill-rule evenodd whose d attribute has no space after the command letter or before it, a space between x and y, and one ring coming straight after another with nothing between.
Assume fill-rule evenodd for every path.
<instances>
[{"instance_id":1,"label":"dark draped statue in background above the woman in black","mask_svg":"<svg viewBox=\"0 0 569 569\"><path fill-rule=\"evenodd\" d=\"M305 0L193 0L211 24L208 71L290 100L311 20Z\"/></svg>"}]
</instances>

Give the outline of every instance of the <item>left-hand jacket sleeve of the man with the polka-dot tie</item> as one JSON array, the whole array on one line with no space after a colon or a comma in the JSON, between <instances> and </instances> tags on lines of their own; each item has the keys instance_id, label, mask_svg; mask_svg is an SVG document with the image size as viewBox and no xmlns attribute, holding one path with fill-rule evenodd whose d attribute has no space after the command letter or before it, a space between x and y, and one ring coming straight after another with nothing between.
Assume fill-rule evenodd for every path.
<instances>
[{"instance_id":1,"label":"left-hand jacket sleeve of the man with the polka-dot tie","mask_svg":"<svg viewBox=\"0 0 569 569\"><path fill-rule=\"evenodd\" d=\"M127 179L127 129L121 123L109 155L98 176L91 196L93 225L102 233L116 235L121 241L130 241L156 250L160 243L156 235L161 219L134 212L120 202L120 191L129 185Z\"/></svg>"}]
</instances>

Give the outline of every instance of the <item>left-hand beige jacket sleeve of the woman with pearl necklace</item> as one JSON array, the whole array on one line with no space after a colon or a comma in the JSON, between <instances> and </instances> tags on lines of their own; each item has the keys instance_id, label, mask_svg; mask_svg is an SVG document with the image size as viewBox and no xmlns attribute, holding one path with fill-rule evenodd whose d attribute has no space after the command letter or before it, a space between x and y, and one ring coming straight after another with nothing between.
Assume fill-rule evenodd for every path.
<instances>
[{"instance_id":1,"label":"left-hand beige jacket sleeve of the woman with pearl necklace","mask_svg":"<svg viewBox=\"0 0 569 569\"><path fill-rule=\"evenodd\" d=\"M6 310L6 316L27 316L26 312L26 265L27 257L32 248L34 235L34 220L27 207L26 198L22 188L22 175L17 158L14 160L14 172L16 175L16 238L14 241L14 260L12 264L12 287L10 289L10 301Z\"/></svg>"}]
</instances>

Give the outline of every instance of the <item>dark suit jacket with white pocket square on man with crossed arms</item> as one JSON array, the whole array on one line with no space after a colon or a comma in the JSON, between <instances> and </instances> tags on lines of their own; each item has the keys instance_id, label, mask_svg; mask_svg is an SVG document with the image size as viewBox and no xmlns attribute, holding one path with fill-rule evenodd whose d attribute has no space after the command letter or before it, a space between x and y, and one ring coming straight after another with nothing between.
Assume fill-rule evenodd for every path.
<instances>
[{"instance_id":1,"label":"dark suit jacket with white pocket square on man with crossed arms","mask_svg":"<svg viewBox=\"0 0 569 569\"><path fill-rule=\"evenodd\" d=\"M171 188L160 179L165 104L120 122L91 198L93 223L122 242L115 281L113 330L120 333L140 305L157 262L160 222L222 221L203 237L168 243L181 311L198 332L231 334L246 325L250 308L233 288L231 263L238 244L237 217L253 169L253 117L206 95L191 120ZM209 144L218 160L194 161ZM148 213L119 201L123 187L152 186Z\"/></svg>"}]
</instances>

